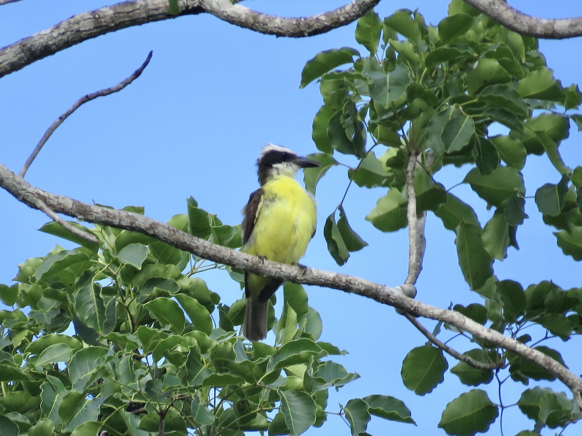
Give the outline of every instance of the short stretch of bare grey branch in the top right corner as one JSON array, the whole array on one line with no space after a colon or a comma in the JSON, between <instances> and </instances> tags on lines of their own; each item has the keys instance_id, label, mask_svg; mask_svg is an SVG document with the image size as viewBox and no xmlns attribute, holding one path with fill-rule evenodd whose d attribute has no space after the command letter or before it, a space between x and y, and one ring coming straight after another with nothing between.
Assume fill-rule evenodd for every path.
<instances>
[{"instance_id":1,"label":"short stretch of bare grey branch in the top right corner","mask_svg":"<svg viewBox=\"0 0 582 436\"><path fill-rule=\"evenodd\" d=\"M464 2L521 35L556 40L582 36L582 17L544 19L520 12L501 0Z\"/></svg>"}]
</instances>

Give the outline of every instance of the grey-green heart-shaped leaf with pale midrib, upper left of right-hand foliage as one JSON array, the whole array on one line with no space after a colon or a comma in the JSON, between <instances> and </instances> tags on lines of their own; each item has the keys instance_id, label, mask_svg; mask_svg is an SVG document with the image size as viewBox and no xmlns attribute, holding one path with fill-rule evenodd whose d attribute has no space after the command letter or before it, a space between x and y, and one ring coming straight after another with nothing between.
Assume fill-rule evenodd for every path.
<instances>
[{"instance_id":1,"label":"grey-green heart-shaped leaf with pale midrib, upper left of right-hand foliage","mask_svg":"<svg viewBox=\"0 0 582 436\"><path fill-rule=\"evenodd\" d=\"M368 80L370 97L386 109L406 93L406 87L410 84L410 71L406 66L399 64L385 73L374 58L364 59L362 74Z\"/></svg>"}]
</instances>

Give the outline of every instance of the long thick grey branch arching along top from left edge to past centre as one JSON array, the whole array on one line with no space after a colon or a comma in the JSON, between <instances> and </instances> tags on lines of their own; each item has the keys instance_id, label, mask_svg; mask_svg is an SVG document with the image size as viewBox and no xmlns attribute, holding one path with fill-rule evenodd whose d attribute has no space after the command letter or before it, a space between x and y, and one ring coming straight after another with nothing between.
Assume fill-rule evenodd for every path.
<instances>
[{"instance_id":1,"label":"long thick grey branch arching along top from left edge to past centre","mask_svg":"<svg viewBox=\"0 0 582 436\"><path fill-rule=\"evenodd\" d=\"M179 0L179 15L168 12L168 0L132 0L83 12L0 49L0 77L75 44L126 27L210 12L230 23L271 35L306 37L344 26L379 0L354 0L330 12L304 18L282 18L254 12L228 0ZM208 10L204 9L204 6Z\"/></svg>"}]
</instances>

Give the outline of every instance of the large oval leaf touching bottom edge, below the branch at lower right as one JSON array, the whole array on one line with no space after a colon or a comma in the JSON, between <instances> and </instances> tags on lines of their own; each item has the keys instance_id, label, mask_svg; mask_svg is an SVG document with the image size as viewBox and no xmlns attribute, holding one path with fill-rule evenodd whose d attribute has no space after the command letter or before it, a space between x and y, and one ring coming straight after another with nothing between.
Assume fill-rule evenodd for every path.
<instances>
[{"instance_id":1,"label":"large oval leaf touching bottom edge, below the branch at lower right","mask_svg":"<svg viewBox=\"0 0 582 436\"><path fill-rule=\"evenodd\" d=\"M489 430L499 410L480 389L459 395L446 405L438 426L447 434L473 436Z\"/></svg>"}]
</instances>

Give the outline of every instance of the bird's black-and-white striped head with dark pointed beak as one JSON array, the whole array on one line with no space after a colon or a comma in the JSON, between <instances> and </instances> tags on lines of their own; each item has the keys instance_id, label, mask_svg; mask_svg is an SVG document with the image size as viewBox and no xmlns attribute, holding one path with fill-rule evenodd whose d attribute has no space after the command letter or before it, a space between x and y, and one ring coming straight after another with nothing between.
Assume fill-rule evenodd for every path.
<instances>
[{"instance_id":1,"label":"bird's black-and-white striped head with dark pointed beak","mask_svg":"<svg viewBox=\"0 0 582 436\"><path fill-rule=\"evenodd\" d=\"M257 165L258 181L261 186L272 177L279 175L295 177L300 168L321 166L313 159L297 156L288 148L275 144L267 144L262 148Z\"/></svg>"}]
</instances>

